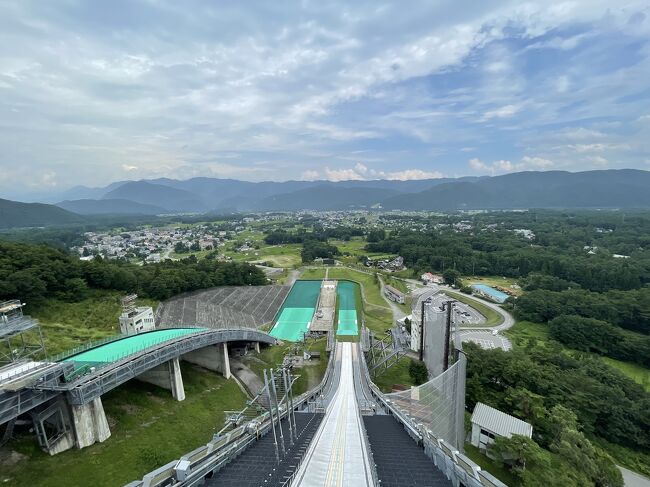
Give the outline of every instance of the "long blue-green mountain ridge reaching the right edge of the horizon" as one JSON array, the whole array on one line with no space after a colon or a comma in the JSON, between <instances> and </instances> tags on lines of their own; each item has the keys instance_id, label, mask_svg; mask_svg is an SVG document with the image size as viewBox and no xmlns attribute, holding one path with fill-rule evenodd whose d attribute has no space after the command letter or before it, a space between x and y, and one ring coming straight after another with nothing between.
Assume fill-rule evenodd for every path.
<instances>
[{"instance_id":1,"label":"long blue-green mountain ridge reaching the right edge of the horizon","mask_svg":"<svg viewBox=\"0 0 650 487\"><path fill-rule=\"evenodd\" d=\"M520 172L451 182L383 202L386 209L647 208L650 172L635 169Z\"/></svg>"}]
</instances>

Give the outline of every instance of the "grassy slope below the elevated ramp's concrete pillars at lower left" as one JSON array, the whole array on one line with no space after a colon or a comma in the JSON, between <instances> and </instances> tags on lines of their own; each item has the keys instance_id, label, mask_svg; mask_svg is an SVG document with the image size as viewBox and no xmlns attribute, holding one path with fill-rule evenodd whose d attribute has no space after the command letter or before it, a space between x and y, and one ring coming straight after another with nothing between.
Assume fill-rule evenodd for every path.
<instances>
[{"instance_id":1,"label":"grassy slope below the elevated ramp's concrete pillars at lower left","mask_svg":"<svg viewBox=\"0 0 650 487\"><path fill-rule=\"evenodd\" d=\"M33 435L19 437L5 449L17 452L20 460L3 464L0 483L124 485L207 443L223 426L223 411L242 408L246 396L235 381L184 362L181 367L185 401L156 386L127 382L102 398L112 433L108 440L50 456Z\"/></svg>"}]
</instances>

